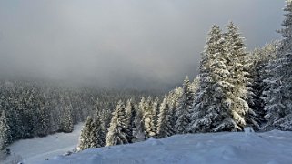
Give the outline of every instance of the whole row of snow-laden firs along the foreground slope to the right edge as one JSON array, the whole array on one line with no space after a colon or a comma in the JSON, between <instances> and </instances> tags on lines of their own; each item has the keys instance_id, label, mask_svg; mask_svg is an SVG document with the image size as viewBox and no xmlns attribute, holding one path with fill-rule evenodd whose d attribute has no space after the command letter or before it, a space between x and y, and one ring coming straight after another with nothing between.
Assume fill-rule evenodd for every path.
<instances>
[{"instance_id":1,"label":"whole row of snow-laden firs along the foreground slope to the right edge","mask_svg":"<svg viewBox=\"0 0 292 164\"><path fill-rule=\"evenodd\" d=\"M87 118L78 149L246 127L292 130L291 1L284 11L282 39L252 52L232 22L225 32L212 26L194 82L186 77L160 103L119 101L108 128L100 113Z\"/></svg>"}]
</instances>

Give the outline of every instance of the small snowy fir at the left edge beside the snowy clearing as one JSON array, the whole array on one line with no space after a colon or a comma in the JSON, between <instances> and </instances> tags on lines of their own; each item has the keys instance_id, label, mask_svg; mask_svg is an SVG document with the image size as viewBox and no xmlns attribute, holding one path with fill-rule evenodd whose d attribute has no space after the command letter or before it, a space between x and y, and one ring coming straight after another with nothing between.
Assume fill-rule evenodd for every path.
<instances>
[{"instance_id":1,"label":"small snowy fir at the left edge beside the snowy clearing","mask_svg":"<svg viewBox=\"0 0 292 164\"><path fill-rule=\"evenodd\" d=\"M5 110L2 110L0 116L0 150L5 149L8 144L11 143L11 132L8 125L8 120L5 114Z\"/></svg>"}]
</instances>

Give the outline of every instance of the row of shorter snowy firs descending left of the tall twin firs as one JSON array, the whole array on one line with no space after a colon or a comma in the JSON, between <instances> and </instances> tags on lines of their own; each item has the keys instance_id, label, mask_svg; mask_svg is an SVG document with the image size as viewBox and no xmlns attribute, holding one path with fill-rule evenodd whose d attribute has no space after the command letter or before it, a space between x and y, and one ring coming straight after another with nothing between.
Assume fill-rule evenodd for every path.
<instances>
[{"instance_id":1,"label":"row of shorter snowy firs descending left of the tall twin firs","mask_svg":"<svg viewBox=\"0 0 292 164\"><path fill-rule=\"evenodd\" d=\"M139 103L132 99L118 101L111 118L99 110L86 118L80 136L79 150L104 146L134 143L146 138L165 138L181 131L179 122L185 100L196 91L197 79L186 77L184 87L176 87L163 97L142 97ZM188 94L187 94L188 95Z\"/></svg>"}]
</instances>

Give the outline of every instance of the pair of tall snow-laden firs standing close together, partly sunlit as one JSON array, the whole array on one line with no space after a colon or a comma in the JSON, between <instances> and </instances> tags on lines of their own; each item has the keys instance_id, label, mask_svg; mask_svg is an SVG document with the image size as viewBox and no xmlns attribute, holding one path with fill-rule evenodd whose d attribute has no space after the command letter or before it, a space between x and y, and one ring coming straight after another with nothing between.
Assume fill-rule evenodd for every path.
<instances>
[{"instance_id":1,"label":"pair of tall snow-laden firs standing close together, partly sunlit","mask_svg":"<svg viewBox=\"0 0 292 164\"><path fill-rule=\"evenodd\" d=\"M191 111L191 132L243 130L257 123L247 104L250 79L243 39L231 22L227 33L213 26L202 53L199 87Z\"/></svg>"}]
</instances>

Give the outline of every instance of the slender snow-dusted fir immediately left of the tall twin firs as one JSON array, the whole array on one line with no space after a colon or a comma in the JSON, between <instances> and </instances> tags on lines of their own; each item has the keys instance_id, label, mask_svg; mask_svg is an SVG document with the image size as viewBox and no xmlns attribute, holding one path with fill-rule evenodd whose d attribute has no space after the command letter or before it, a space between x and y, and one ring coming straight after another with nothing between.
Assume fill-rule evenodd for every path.
<instances>
[{"instance_id":1,"label":"slender snow-dusted fir immediately left of the tall twin firs","mask_svg":"<svg viewBox=\"0 0 292 164\"><path fill-rule=\"evenodd\" d=\"M187 133L186 127L190 123L189 114L193 106L194 93L190 86L188 77L184 80L182 96L179 98L178 107L176 108L176 133Z\"/></svg>"}]
</instances>

